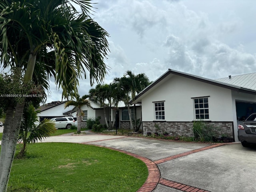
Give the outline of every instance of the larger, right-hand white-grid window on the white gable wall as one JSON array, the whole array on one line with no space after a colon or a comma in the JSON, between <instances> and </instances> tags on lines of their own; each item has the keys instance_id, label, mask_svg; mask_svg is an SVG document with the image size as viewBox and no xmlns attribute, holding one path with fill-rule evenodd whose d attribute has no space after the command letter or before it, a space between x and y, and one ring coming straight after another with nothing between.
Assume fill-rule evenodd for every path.
<instances>
[{"instance_id":1,"label":"larger, right-hand white-grid window on the white gable wall","mask_svg":"<svg viewBox=\"0 0 256 192\"><path fill-rule=\"evenodd\" d=\"M194 99L194 110L196 119L209 119L208 98Z\"/></svg>"}]
</instances>

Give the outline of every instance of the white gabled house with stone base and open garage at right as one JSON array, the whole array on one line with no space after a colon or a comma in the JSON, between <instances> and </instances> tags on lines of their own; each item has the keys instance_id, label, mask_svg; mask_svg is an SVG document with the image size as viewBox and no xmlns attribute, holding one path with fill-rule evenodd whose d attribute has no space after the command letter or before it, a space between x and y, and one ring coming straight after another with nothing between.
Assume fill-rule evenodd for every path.
<instances>
[{"instance_id":1,"label":"white gabled house with stone base and open garage at right","mask_svg":"<svg viewBox=\"0 0 256 192\"><path fill-rule=\"evenodd\" d=\"M204 120L221 136L238 141L240 120L256 112L256 73L211 80L169 69L136 95L144 132L193 136L193 121ZM218 131L217 131L218 130Z\"/></svg>"}]
</instances>

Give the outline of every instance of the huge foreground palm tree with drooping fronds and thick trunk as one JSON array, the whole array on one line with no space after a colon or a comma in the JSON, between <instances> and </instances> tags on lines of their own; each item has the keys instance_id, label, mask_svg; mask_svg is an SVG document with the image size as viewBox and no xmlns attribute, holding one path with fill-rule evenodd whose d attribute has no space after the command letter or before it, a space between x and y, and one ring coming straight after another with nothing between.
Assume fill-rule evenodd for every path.
<instances>
[{"instance_id":1,"label":"huge foreground palm tree with drooping fronds and thick trunk","mask_svg":"<svg viewBox=\"0 0 256 192\"><path fill-rule=\"evenodd\" d=\"M91 8L90 0L0 1L0 65L15 69L22 81L17 92L30 93L27 84L37 83L42 73L43 87L48 88L45 80L55 78L67 99L77 92L81 74L87 77L86 70L91 85L104 79L108 33L88 16ZM6 100L10 104L0 154L0 192L7 190L25 104L24 98Z\"/></svg>"}]
</instances>

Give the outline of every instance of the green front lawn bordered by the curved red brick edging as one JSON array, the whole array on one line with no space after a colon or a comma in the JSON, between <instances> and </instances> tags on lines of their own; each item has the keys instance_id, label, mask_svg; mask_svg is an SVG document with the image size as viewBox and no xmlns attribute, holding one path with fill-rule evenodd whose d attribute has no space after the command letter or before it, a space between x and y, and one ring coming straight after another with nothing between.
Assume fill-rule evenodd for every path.
<instances>
[{"instance_id":1,"label":"green front lawn bordered by the curved red brick edging","mask_svg":"<svg viewBox=\"0 0 256 192\"><path fill-rule=\"evenodd\" d=\"M136 192L148 176L146 164L97 146L29 144L14 159L8 192Z\"/></svg>"}]
</instances>

